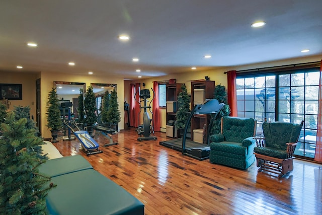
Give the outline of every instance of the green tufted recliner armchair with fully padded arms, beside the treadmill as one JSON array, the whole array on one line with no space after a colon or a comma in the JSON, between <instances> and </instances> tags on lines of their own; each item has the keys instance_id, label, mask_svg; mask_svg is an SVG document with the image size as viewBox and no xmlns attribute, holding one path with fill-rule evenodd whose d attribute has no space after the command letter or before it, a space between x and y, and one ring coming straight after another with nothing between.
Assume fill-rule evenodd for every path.
<instances>
[{"instance_id":1,"label":"green tufted recliner armchair with fully padded arms, beside the treadmill","mask_svg":"<svg viewBox=\"0 0 322 215\"><path fill-rule=\"evenodd\" d=\"M249 168L255 161L255 134L255 119L223 116L221 133L210 136L210 163Z\"/></svg>"}]
</instances>

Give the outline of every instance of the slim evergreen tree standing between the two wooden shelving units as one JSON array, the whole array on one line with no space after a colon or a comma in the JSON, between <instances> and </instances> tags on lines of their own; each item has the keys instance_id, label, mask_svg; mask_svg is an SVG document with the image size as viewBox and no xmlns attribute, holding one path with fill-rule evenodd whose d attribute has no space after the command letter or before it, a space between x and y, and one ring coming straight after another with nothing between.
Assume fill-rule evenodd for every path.
<instances>
[{"instance_id":1,"label":"slim evergreen tree standing between the two wooden shelving units","mask_svg":"<svg viewBox=\"0 0 322 215\"><path fill-rule=\"evenodd\" d=\"M179 133L183 133L183 129L187 123L190 112L190 96L187 93L186 85L181 85L181 92L177 98L177 113L176 113L176 122L175 127L179 129Z\"/></svg>"}]
</instances>

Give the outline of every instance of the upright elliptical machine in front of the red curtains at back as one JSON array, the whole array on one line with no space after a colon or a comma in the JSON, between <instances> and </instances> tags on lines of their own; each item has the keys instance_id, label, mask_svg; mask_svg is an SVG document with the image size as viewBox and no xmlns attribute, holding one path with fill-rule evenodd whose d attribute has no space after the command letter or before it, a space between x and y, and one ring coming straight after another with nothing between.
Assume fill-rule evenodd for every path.
<instances>
[{"instance_id":1,"label":"upright elliptical machine in front of the red curtains at back","mask_svg":"<svg viewBox=\"0 0 322 215\"><path fill-rule=\"evenodd\" d=\"M140 96L139 97L140 97L140 99L142 99L140 101L138 101L136 99L136 94L138 93L138 91L134 95L135 101L137 101L139 103L139 105L140 105L140 112L138 113L137 118L140 117L141 110L143 109L143 124L139 124L137 129L136 129L137 134L140 135L137 138L138 141L149 140L149 139L156 140L156 136L151 136L150 135L150 133L154 134L153 113L151 111L151 102L153 101L153 99L155 97L155 94L154 94L154 91L153 91L152 88L151 88L151 90L153 92L153 98L150 101L149 106L146 106L147 99L150 98L150 91L148 89L140 90ZM143 102L143 106L141 106L141 102ZM152 114L152 119L150 119L149 114L146 111L147 108L149 109L150 113ZM152 122L152 125L151 125L151 122Z\"/></svg>"}]
</instances>

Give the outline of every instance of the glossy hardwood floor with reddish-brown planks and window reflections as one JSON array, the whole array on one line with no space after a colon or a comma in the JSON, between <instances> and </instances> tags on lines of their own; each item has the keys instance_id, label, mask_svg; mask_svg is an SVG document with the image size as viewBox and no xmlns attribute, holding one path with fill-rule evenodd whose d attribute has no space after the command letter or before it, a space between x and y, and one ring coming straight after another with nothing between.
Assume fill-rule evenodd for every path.
<instances>
[{"instance_id":1,"label":"glossy hardwood floor with reddish-brown planks and window reflections","mask_svg":"<svg viewBox=\"0 0 322 215\"><path fill-rule=\"evenodd\" d=\"M238 170L198 161L159 145L171 139L137 141L134 129L113 135L119 145L96 133L101 154L86 156L80 142L60 140L63 156L83 155L95 170L145 205L145 214L322 214L322 165L294 160L294 170L278 179L258 173L256 162Z\"/></svg>"}]
</instances>

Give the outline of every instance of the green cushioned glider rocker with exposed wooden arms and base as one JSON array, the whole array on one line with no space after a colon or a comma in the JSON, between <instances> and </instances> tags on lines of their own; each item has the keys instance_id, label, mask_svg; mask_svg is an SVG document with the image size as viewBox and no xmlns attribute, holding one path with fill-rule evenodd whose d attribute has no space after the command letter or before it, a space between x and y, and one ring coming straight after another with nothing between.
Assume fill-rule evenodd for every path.
<instances>
[{"instance_id":1,"label":"green cushioned glider rocker with exposed wooden arms and base","mask_svg":"<svg viewBox=\"0 0 322 215\"><path fill-rule=\"evenodd\" d=\"M304 121L300 124L289 122L263 123L264 137L256 137L257 147L254 154L258 172L268 171L282 177L293 170L293 154Z\"/></svg>"}]
</instances>

